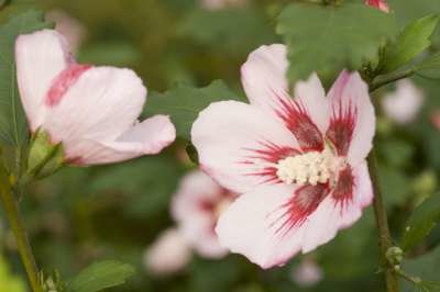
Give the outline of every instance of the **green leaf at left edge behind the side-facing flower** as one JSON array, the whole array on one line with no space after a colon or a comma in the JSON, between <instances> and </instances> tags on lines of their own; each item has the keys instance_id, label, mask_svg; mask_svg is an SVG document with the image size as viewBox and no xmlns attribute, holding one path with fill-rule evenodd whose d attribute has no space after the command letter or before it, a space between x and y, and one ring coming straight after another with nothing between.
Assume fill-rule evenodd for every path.
<instances>
[{"instance_id":1,"label":"green leaf at left edge behind the side-facing flower","mask_svg":"<svg viewBox=\"0 0 440 292\"><path fill-rule=\"evenodd\" d=\"M20 34L48 27L42 11L28 11L0 26L0 144L20 146L28 138L16 88L14 43Z\"/></svg>"}]
</instances>

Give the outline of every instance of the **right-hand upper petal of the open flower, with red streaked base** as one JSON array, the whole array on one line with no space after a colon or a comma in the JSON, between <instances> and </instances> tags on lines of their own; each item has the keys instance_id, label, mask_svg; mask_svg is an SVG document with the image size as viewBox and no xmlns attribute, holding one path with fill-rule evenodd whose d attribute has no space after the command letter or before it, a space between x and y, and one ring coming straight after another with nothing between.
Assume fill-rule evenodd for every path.
<instances>
[{"instance_id":1,"label":"right-hand upper petal of the open flower, with red streaked base","mask_svg":"<svg viewBox=\"0 0 440 292\"><path fill-rule=\"evenodd\" d=\"M358 72L342 71L328 97L331 119L326 135L338 154L356 166L369 155L375 132L369 87Z\"/></svg>"}]
</instances>

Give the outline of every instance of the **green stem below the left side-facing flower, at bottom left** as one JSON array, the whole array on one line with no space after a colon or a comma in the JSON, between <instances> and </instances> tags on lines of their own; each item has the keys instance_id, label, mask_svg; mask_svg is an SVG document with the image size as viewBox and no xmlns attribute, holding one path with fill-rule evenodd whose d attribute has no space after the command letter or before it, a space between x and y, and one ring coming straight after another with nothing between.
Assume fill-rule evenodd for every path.
<instances>
[{"instance_id":1,"label":"green stem below the left side-facing flower, at bottom left","mask_svg":"<svg viewBox=\"0 0 440 292\"><path fill-rule=\"evenodd\" d=\"M20 256L23 261L24 268L26 270L28 278L32 287L32 291L42 292L42 289L38 284L38 269L36 267L31 245L29 243L28 235L20 216L19 205L11 190L8 175L1 166L0 166L0 196L3 203L6 214L9 220L9 224L15 236Z\"/></svg>"}]
</instances>

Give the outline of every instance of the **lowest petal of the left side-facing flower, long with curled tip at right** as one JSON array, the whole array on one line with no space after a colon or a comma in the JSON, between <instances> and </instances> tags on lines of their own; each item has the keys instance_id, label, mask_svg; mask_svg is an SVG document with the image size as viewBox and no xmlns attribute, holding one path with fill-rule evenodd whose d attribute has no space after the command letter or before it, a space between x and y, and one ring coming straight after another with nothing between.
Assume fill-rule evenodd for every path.
<instances>
[{"instance_id":1,"label":"lowest petal of the left side-facing flower, long with curled tip at right","mask_svg":"<svg viewBox=\"0 0 440 292\"><path fill-rule=\"evenodd\" d=\"M168 116L155 115L129 128L114 142L78 139L63 143L74 165L101 165L160 153L174 142L176 130Z\"/></svg>"}]
</instances>

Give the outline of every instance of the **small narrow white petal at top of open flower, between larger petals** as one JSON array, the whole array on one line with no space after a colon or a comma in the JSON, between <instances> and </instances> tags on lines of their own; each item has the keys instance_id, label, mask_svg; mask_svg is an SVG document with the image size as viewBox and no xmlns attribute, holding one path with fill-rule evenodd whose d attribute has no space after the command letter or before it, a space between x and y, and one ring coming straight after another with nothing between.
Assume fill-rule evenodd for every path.
<instances>
[{"instance_id":1,"label":"small narrow white petal at top of open flower, between larger petals","mask_svg":"<svg viewBox=\"0 0 440 292\"><path fill-rule=\"evenodd\" d=\"M321 133L326 133L330 122L329 102L322 83L315 72L308 80L296 83L295 97L305 106L311 121Z\"/></svg>"}]
</instances>

